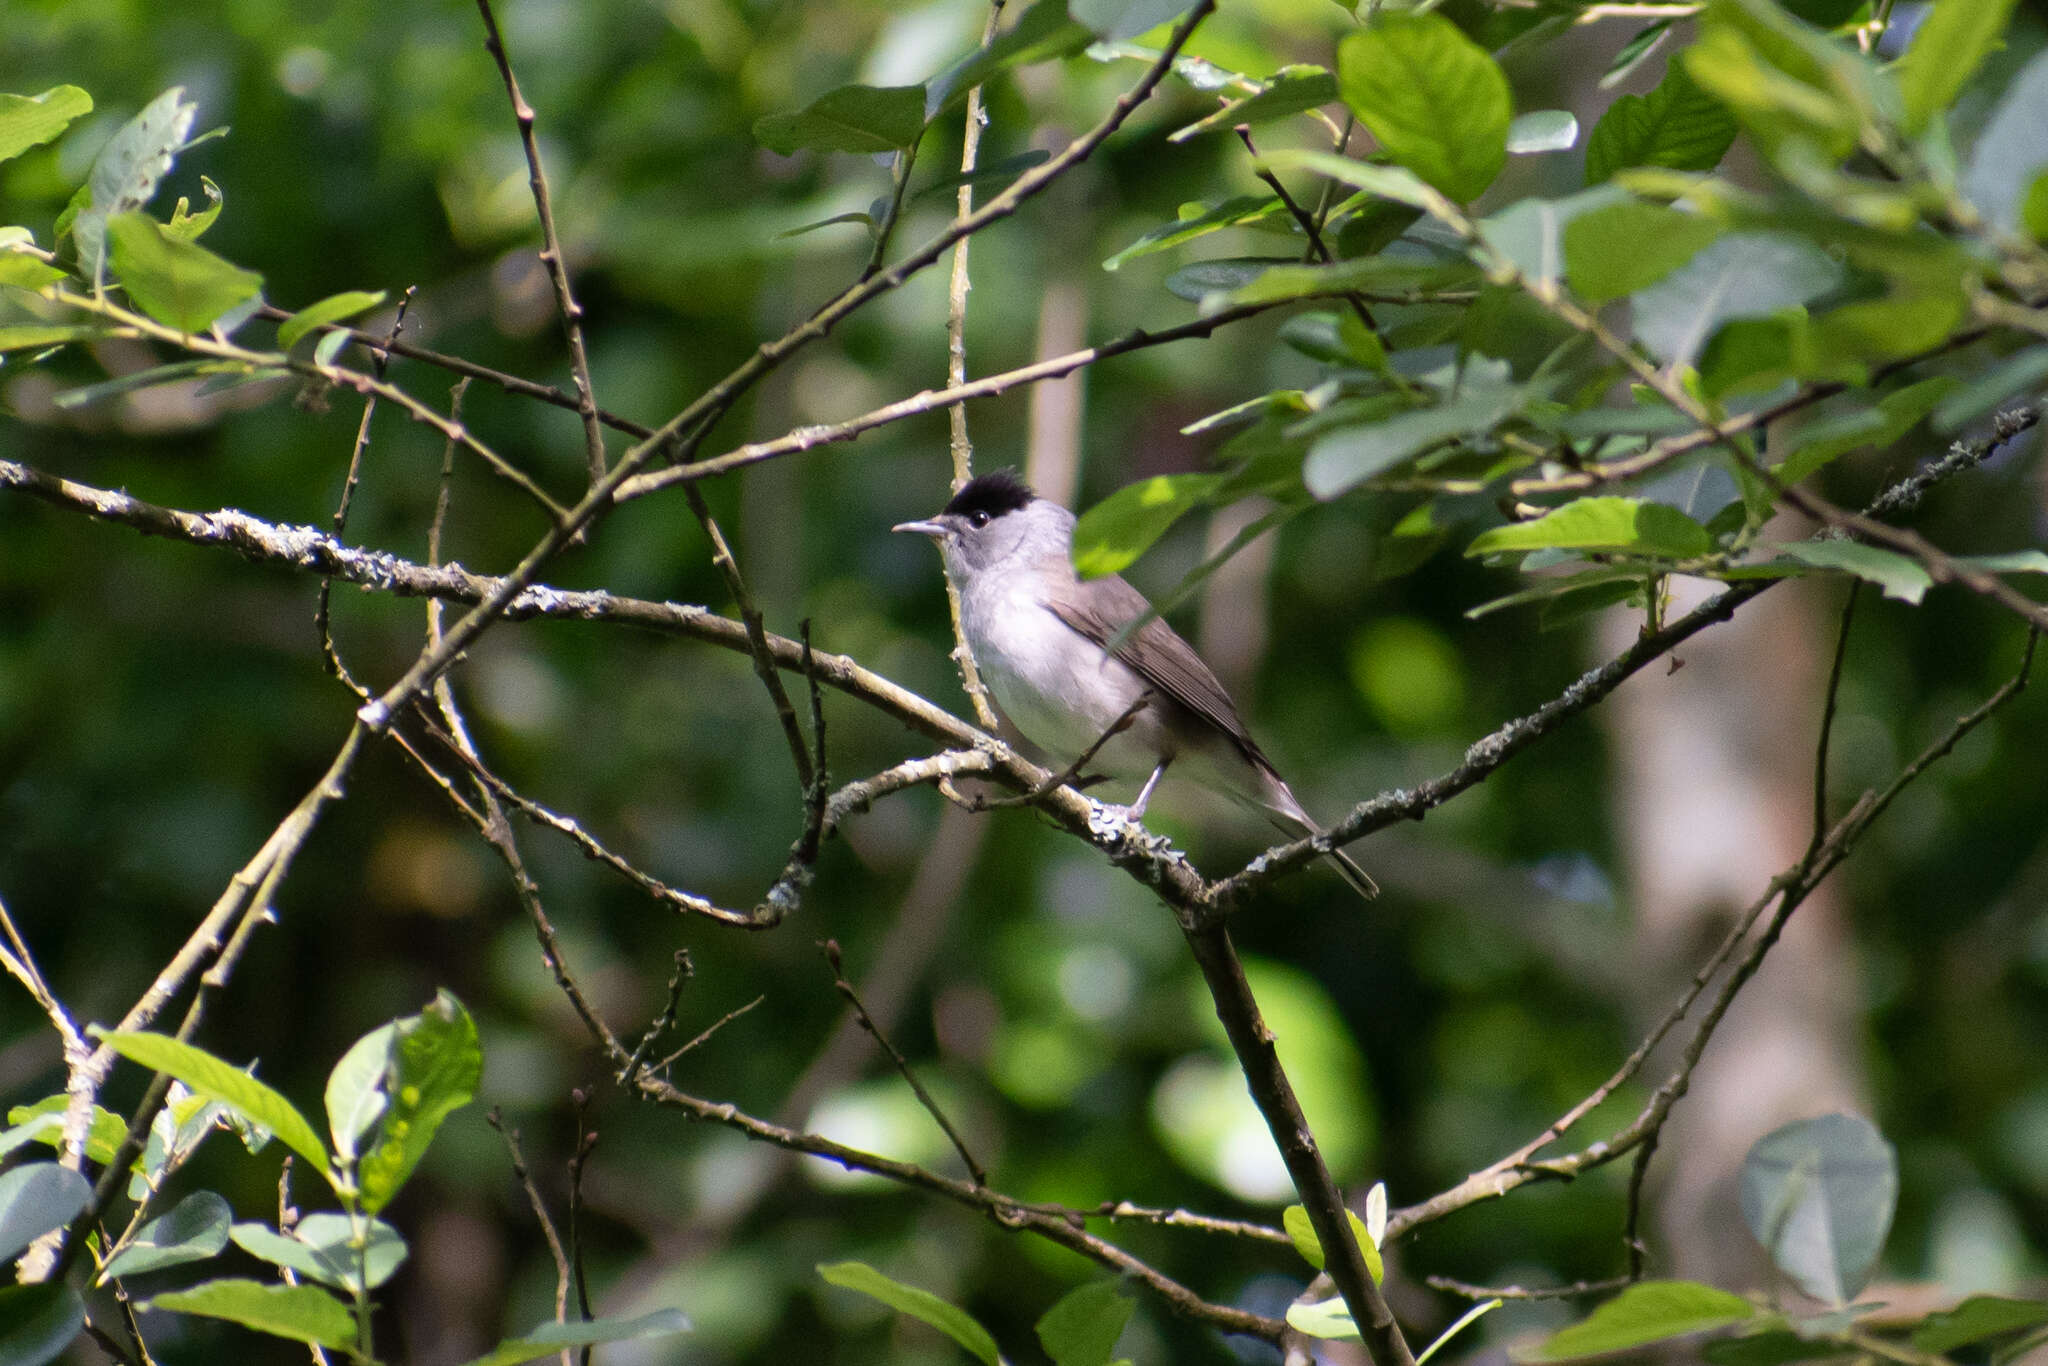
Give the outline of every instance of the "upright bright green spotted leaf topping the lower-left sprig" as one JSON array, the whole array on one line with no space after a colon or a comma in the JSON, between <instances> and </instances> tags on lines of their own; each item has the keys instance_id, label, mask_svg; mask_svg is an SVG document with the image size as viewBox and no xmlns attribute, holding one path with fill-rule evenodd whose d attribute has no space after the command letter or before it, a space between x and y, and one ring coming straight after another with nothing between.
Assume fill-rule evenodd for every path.
<instances>
[{"instance_id":1,"label":"upright bright green spotted leaf topping the lower-left sprig","mask_svg":"<svg viewBox=\"0 0 2048 1366\"><path fill-rule=\"evenodd\" d=\"M426 1010L395 1022L387 1106L375 1143L356 1163L362 1208L375 1214L391 1202L440 1122L475 1098L481 1079L477 1024L453 991L434 993Z\"/></svg>"}]
</instances>

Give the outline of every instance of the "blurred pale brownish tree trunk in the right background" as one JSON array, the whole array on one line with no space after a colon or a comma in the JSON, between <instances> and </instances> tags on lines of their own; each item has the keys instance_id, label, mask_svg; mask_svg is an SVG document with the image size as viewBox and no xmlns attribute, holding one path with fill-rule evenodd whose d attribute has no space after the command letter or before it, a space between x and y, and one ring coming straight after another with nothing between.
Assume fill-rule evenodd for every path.
<instances>
[{"instance_id":1,"label":"blurred pale brownish tree trunk in the right background","mask_svg":"<svg viewBox=\"0 0 2048 1366\"><path fill-rule=\"evenodd\" d=\"M1671 616L1718 592L1675 584ZM1628 979L1645 1026L1731 917L1806 848L1837 604L1839 590L1778 588L1679 647L1675 674L1645 672L1599 709L1624 905L1634 911ZM1610 614L1602 657L1626 647L1640 623L1636 612ZM1645 1227L1653 1274L1759 1284L1765 1262L1737 1198L1749 1145L1794 1118L1868 1108L1858 973L1837 891L1825 885L1790 920L1671 1112ZM1661 1053L1647 1075L1667 1075L1673 1049Z\"/></svg>"}]
</instances>

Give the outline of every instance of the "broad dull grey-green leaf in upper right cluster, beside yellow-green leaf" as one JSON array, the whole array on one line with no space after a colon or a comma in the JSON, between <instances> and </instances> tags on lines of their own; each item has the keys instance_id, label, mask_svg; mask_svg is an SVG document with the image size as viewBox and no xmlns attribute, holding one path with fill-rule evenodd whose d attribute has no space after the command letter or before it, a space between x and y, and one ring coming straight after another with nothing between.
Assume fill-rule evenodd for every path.
<instances>
[{"instance_id":1,"label":"broad dull grey-green leaf in upper right cluster, beside yellow-green leaf","mask_svg":"<svg viewBox=\"0 0 2048 1366\"><path fill-rule=\"evenodd\" d=\"M1722 324L1798 307L1839 281L1841 264L1810 242L1731 233L1636 291L1636 336L1669 365L1692 365Z\"/></svg>"}]
</instances>

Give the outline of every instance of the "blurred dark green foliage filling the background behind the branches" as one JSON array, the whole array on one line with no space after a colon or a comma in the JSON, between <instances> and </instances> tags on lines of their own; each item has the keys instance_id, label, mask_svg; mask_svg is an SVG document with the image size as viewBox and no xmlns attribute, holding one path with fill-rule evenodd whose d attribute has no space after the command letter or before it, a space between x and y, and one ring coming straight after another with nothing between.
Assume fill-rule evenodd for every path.
<instances>
[{"instance_id":1,"label":"blurred dark green foliage filling the background behind the branches","mask_svg":"<svg viewBox=\"0 0 2048 1366\"><path fill-rule=\"evenodd\" d=\"M844 285L866 252L856 227L780 233L887 190L887 168L868 158L758 147L754 119L848 80L922 80L975 41L985 10L967 0L508 0L500 18L539 109L598 397L659 422ZM1327 0L1233 0L1192 51L1266 74L1327 61L1352 23ZM1595 104L1581 121L1597 115L1608 94L1593 92L1591 74L1632 33L1595 25L1511 55L1518 109L1585 92ZM272 303L416 285L412 340L569 383L516 133L469 6L10 0L6 35L0 88L72 82L98 104L55 147L6 164L6 221L47 240L96 143L184 84L201 127L231 133L186 154L160 203L199 199L201 174L217 180L227 209L209 246L262 270ZM2040 41L2021 18L1980 80L1978 111ZM1655 80L1657 66L1628 88ZM1075 59L1006 80L991 92L983 160L1057 145L1135 72ZM1061 299L1059 322L1092 340L1190 315L1161 289L1186 254L1116 272L1100 262L1184 201L1255 188L1227 135L1163 141L1210 104L1169 82L1090 164L975 240L973 373L1032 360L1049 297ZM952 129L926 147L922 178L956 156ZM1518 158L1493 197L1575 188L1577 162L1577 152ZM915 201L897 242L922 240L948 213L950 195ZM1255 244L1239 231L1202 246ZM1309 377L1276 328L1270 315L1090 371L1077 498L1202 467L1208 438L1180 426ZM326 524L356 399L207 401L170 387L78 412L51 403L68 383L147 360L133 344L106 344L55 371L0 371L0 403L16 418L0 424L0 453L160 504ZM420 365L399 360L391 375L428 401L446 391ZM709 449L844 418L942 375L944 272L934 270L762 385ZM557 492L575 487L573 414L477 385L465 416ZM1028 395L977 403L971 428L979 467L1026 463ZM1866 453L1829 479L1843 498L1860 496L1923 446ZM438 465L438 438L381 414L350 539L424 555ZM707 494L770 629L795 633L809 616L821 647L965 707L944 653L936 557L887 535L942 502L946 469L944 418L928 416ZM449 555L508 567L539 535L537 518L475 469L459 471ZM2044 506L2040 463L2015 451L1939 492L1925 528L1958 551L2007 549L2042 537ZM1466 621L1464 608L1511 584L1454 553L1376 580L1386 522L1384 508L1348 500L1284 530L1266 582L1253 582L1264 653L1233 678L1253 729L1327 815L1442 770L1604 653L1587 625L1544 633L1516 612ZM1200 535L1182 526L1135 578L1176 584L1202 553ZM729 608L674 496L627 506L551 580ZM1774 637L1741 668L1753 705L1810 737L1812 670L1778 653L1827 649L1839 586L1784 592L1808 590L1812 631ZM319 666L311 612L311 582L0 500L0 895L82 1018L106 1020L139 991L346 733L352 702ZM416 602L340 590L334 614L367 680L389 680L418 649ZM1194 629L1194 612L1186 618ZM1997 686L2017 645L2013 621L1974 598L1937 592L1921 610L1866 600L1837 723L1837 791L1880 780L1939 733ZM780 868L799 793L745 659L596 627L508 625L457 684L508 778L670 881L752 903ZM840 776L918 752L846 698L827 698L827 719ZM1661 721L1690 723L1700 719ZM1956 1290L2015 1288L2048 1272L2042 733L2038 694L1997 717L1909 793L1837 883L1831 965L1851 1004L1835 1042L1858 1061L1855 1087L1905 1167L1886 1268ZM1384 1180L1403 1204L1499 1157L1591 1090L1659 1010L1653 987L1690 973L1692 942L1675 961L1642 961L1620 834L1628 811L1610 797L1620 743L1618 731L1579 721L1425 825L1368 842L1362 858L1389 887L1370 909L1311 872L1243 917L1260 997L1339 1180L1358 1190ZM1067 1284L1098 1274L958 1208L616 1104L489 852L389 748L358 766L350 797L301 856L283 924L258 936L205 1042L260 1057L272 1083L309 1100L354 1036L446 985L483 1030L483 1098L524 1130L557 1208L578 1126L569 1090L590 1087L582 1122L600 1143L584 1237L602 1309L672 1303L698 1327L680 1346L639 1358L614 1348L610 1360L956 1360L924 1329L825 1288L811 1270L825 1260L862 1257L954 1296L1016 1343ZM1251 848L1247 831L1171 815L1165 827L1204 866ZM1780 815L1802 842L1796 803ZM930 793L885 803L827 850L801 915L760 936L678 922L565 844L541 834L524 844L571 967L618 1028L659 1010L678 946L696 963L684 1036L766 997L676 1063L684 1090L950 1169L942 1137L872 1049L829 1042L844 1010L815 940L831 936L856 981L895 965L881 993L897 1042L963 1118L999 1188L1268 1223L1286 1200L1171 922L1026 813L946 815ZM1745 897L1755 893L1761 883ZM0 1098L10 1104L59 1085L55 1047L37 1026L20 993L0 993ZM115 1100L125 1104L123 1092ZM1638 1102L1640 1092L1624 1092L1585 1133ZM1675 1126L1704 1104L1681 1104ZM274 1208L268 1165L225 1153L193 1180L225 1190L248 1216ZM543 1317L553 1272L481 1108L446 1124L422 1176L393 1208L416 1257L387 1296L385 1341L403 1341L408 1360L459 1360ZM1614 1274L1620 1186L1622 1173L1602 1171L1427 1227L1401 1251L1399 1307L1421 1323L1458 1313L1421 1288L1432 1272L1477 1282ZM1114 1235L1202 1294L1268 1313L1303 1274L1284 1251L1219 1249L1169 1229ZM1497 1350L1561 1315L1509 1307L1460 1346ZM219 1360L227 1341L195 1321L178 1331L162 1343L164 1362ZM238 1335L233 1350L258 1360L264 1348ZM262 1360L297 1356L270 1350ZM1145 1362L1231 1350L1155 1307L1126 1337Z\"/></svg>"}]
</instances>

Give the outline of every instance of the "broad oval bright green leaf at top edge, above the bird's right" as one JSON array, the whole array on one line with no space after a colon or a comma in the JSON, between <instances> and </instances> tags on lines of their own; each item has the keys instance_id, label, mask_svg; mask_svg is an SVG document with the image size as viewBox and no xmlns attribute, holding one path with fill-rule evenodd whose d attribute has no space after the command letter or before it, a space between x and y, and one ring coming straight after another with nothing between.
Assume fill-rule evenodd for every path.
<instances>
[{"instance_id":1,"label":"broad oval bright green leaf at top edge, above the bird's right","mask_svg":"<svg viewBox=\"0 0 2048 1366\"><path fill-rule=\"evenodd\" d=\"M1501 174L1507 78L1442 14L1374 14L1337 45L1337 88L1386 156L1450 199L1470 203Z\"/></svg>"}]
</instances>

